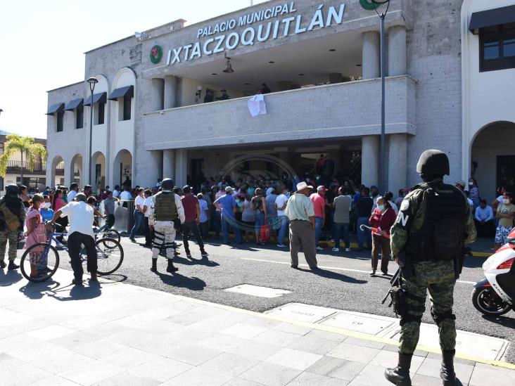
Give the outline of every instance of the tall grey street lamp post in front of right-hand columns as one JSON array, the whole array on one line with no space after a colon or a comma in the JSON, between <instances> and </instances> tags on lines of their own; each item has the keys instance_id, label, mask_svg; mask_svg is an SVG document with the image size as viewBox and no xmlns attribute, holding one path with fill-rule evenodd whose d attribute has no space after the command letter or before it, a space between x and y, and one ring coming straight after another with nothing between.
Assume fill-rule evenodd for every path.
<instances>
[{"instance_id":1,"label":"tall grey street lamp post in front of right-hand columns","mask_svg":"<svg viewBox=\"0 0 515 386\"><path fill-rule=\"evenodd\" d=\"M386 50L385 50L385 27L384 20L388 8L390 8L390 0L360 0L360 4L367 10L376 11L381 20L381 147L379 149L379 189L381 193L386 192L386 108L385 108L385 70L386 70ZM379 13L377 8L386 4L386 10ZM391 166L391 165L390 165Z\"/></svg>"}]
</instances>

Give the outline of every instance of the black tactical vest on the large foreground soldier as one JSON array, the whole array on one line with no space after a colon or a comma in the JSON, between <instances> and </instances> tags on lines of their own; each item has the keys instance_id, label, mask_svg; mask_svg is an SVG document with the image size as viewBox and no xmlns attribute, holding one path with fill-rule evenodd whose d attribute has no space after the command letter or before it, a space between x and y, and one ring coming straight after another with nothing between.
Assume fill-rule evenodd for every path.
<instances>
[{"instance_id":1,"label":"black tactical vest on the large foreground soldier","mask_svg":"<svg viewBox=\"0 0 515 386\"><path fill-rule=\"evenodd\" d=\"M463 255L467 202L458 188L437 183L419 184L424 191L424 220L420 229L408 234L406 254L414 262L454 260Z\"/></svg>"}]
</instances>

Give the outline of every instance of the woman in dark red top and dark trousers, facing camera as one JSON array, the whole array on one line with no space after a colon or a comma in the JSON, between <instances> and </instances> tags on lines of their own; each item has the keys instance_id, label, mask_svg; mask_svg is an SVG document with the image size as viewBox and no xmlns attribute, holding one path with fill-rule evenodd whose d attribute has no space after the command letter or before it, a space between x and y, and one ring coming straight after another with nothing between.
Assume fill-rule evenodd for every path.
<instances>
[{"instance_id":1,"label":"woman in dark red top and dark trousers, facing camera","mask_svg":"<svg viewBox=\"0 0 515 386\"><path fill-rule=\"evenodd\" d=\"M390 228L395 223L395 211L390 203L383 197L377 198L377 207L372 212L369 224L372 226L372 271L370 276L376 275L381 249L381 272L388 274L388 261L390 260Z\"/></svg>"}]
</instances>

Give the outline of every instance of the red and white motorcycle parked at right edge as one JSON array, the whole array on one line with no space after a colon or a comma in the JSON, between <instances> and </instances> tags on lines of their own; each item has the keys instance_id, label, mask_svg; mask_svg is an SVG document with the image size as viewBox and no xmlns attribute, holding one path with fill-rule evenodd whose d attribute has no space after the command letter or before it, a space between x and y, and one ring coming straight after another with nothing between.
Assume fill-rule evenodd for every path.
<instances>
[{"instance_id":1,"label":"red and white motorcycle parked at right edge","mask_svg":"<svg viewBox=\"0 0 515 386\"><path fill-rule=\"evenodd\" d=\"M485 315L515 311L515 228L507 241L483 263L486 277L472 291L472 304Z\"/></svg>"}]
</instances>

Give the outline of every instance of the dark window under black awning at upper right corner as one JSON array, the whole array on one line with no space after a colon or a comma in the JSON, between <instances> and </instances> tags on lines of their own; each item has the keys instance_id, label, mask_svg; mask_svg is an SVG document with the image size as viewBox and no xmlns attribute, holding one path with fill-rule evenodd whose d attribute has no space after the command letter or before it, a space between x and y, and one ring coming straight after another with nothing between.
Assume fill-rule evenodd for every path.
<instances>
[{"instance_id":1,"label":"dark window under black awning at upper right corner","mask_svg":"<svg viewBox=\"0 0 515 386\"><path fill-rule=\"evenodd\" d=\"M515 68L515 22L479 30L479 70Z\"/></svg>"}]
</instances>

